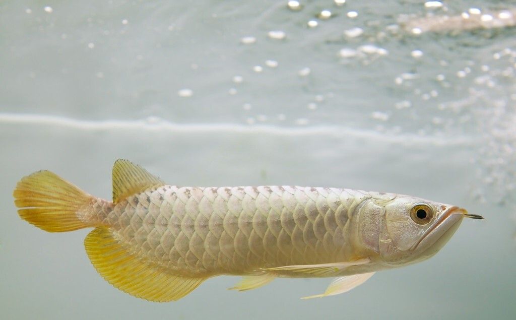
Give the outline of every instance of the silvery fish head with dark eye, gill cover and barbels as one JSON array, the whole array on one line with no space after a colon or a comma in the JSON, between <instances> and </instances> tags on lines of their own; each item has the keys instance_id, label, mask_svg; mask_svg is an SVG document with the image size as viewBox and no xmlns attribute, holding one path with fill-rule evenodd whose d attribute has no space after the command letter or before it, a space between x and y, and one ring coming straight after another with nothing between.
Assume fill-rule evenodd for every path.
<instances>
[{"instance_id":1,"label":"silvery fish head with dark eye, gill cover and barbels","mask_svg":"<svg viewBox=\"0 0 516 320\"><path fill-rule=\"evenodd\" d=\"M436 254L450 239L467 214L455 205L410 196L397 196L383 205L378 248L390 266L412 264Z\"/></svg>"}]
</instances>

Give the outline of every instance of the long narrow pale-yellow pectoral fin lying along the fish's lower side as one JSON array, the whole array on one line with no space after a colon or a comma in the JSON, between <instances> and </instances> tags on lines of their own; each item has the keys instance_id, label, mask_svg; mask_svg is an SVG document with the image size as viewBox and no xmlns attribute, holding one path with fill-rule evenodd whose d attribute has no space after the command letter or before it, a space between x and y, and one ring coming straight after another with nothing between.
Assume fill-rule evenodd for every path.
<instances>
[{"instance_id":1,"label":"long narrow pale-yellow pectoral fin lying along the fish's lower side","mask_svg":"<svg viewBox=\"0 0 516 320\"><path fill-rule=\"evenodd\" d=\"M301 264L301 265L292 265L292 266L284 266L284 267L274 267L274 268L266 268L264 270L268 271L280 271L281 273L300 273L305 274L307 276L316 276L316 277L332 277L336 276L343 269L353 266L369 263L371 260L369 258L360 259L357 261L351 262L335 262L335 263L321 263L321 264Z\"/></svg>"}]
</instances>

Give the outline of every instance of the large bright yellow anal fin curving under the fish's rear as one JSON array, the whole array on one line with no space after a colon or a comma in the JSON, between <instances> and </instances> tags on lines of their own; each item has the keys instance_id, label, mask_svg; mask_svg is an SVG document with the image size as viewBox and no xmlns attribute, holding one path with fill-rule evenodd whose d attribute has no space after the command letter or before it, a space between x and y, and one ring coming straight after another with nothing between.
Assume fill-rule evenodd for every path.
<instances>
[{"instance_id":1,"label":"large bright yellow anal fin curving under the fish's rear","mask_svg":"<svg viewBox=\"0 0 516 320\"><path fill-rule=\"evenodd\" d=\"M91 231L84 241L91 263L104 279L138 298L156 302L178 300L205 278L187 278L129 253L105 228Z\"/></svg>"}]
</instances>

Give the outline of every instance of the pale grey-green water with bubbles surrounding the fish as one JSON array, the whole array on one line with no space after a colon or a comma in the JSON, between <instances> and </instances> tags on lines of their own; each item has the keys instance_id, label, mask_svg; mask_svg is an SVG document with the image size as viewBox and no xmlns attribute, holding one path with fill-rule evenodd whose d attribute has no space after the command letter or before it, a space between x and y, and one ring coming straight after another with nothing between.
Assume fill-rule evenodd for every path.
<instances>
[{"instance_id":1,"label":"pale grey-green water with bubbles surrounding the fish","mask_svg":"<svg viewBox=\"0 0 516 320\"><path fill-rule=\"evenodd\" d=\"M514 29L422 25L513 9L287 3L0 5L5 318L516 316ZM382 190L486 220L464 221L436 257L336 297L298 299L329 279L237 293L225 290L236 277L217 277L178 302L151 303L96 274L82 245L88 230L45 233L12 203L15 183L39 169L108 198L117 158L172 184Z\"/></svg>"}]
</instances>

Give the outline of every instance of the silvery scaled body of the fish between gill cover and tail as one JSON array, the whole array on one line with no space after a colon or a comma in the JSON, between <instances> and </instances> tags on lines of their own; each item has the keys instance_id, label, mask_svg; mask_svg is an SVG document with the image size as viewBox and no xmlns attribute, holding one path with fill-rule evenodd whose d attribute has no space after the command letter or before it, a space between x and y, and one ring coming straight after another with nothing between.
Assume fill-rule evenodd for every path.
<instances>
[{"instance_id":1,"label":"silvery scaled body of the fish between gill cover and tail","mask_svg":"<svg viewBox=\"0 0 516 320\"><path fill-rule=\"evenodd\" d=\"M350 220L365 191L298 186L162 186L116 204L104 224L130 252L176 274L353 259Z\"/></svg>"}]
</instances>

